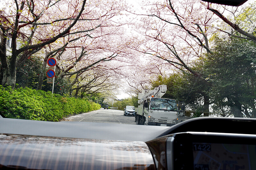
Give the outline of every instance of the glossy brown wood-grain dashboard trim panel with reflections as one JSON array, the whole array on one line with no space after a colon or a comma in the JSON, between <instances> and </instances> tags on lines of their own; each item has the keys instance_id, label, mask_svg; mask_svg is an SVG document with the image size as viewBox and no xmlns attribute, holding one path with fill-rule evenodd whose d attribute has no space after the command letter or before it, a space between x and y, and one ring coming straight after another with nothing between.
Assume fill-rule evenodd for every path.
<instances>
[{"instance_id":1,"label":"glossy brown wood-grain dashboard trim panel with reflections","mask_svg":"<svg viewBox=\"0 0 256 170\"><path fill-rule=\"evenodd\" d=\"M154 169L144 142L1 135L2 169Z\"/></svg>"}]
</instances>

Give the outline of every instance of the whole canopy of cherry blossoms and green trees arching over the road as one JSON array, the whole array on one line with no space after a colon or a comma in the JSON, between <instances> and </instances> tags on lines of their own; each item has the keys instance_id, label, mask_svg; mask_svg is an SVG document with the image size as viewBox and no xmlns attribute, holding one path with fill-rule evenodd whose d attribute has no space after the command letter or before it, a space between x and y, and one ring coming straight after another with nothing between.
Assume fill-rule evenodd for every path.
<instances>
[{"instance_id":1,"label":"whole canopy of cherry blossoms and green trees arching over the road","mask_svg":"<svg viewBox=\"0 0 256 170\"><path fill-rule=\"evenodd\" d=\"M136 96L166 84L166 97L190 109L255 116L254 2L152 0L140 12L114 0L1 4L4 86L49 90L46 61L54 57L60 94L109 97L122 88Z\"/></svg>"}]
</instances>

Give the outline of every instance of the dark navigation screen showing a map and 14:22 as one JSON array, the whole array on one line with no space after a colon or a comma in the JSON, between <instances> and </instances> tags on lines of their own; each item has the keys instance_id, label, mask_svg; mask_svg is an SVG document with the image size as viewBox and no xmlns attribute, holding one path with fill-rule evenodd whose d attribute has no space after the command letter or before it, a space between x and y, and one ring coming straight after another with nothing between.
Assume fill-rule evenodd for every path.
<instances>
[{"instance_id":1,"label":"dark navigation screen showing a map and 14:22","mask_svg":"<svg viewBox=\"0 0 256 170\"><path fill-rule=\"evenodd\" d=\"M194 170L256 169L256 145L193 143Z\"/></svg>"}]
</instances>

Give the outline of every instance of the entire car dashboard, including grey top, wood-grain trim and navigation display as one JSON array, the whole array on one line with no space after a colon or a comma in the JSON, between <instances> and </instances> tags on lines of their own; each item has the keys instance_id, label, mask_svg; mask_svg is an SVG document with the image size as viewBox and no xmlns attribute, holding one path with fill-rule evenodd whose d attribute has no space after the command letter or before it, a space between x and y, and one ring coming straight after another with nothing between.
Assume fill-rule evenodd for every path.
<instances>
[{"instance_id":1,"label":"entire car dashboard, including grey top, wood-grain trim and navigation display","mask_svg":"<svg viewBox=\"0 0 256 170\"><path fill-rule=\"evenodd\" d=\"M1 118L0 169L256 169L255 123L204 117L156 127Z\"/></svg>"}]
</instances>

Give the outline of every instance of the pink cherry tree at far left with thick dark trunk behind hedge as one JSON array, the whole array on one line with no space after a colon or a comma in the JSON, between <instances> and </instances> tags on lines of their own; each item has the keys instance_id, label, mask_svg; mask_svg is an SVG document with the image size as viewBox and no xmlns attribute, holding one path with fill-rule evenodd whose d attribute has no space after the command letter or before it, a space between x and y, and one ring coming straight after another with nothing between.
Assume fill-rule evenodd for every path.
<instances>
[{"instance_id":1,"label":"pink cherry tree at far left with thick dark trunk behind hedge","mask_svg":"<svg viewBox=\"0 0 256 170\"><path fill-rule=\"evenodd\" d=\"M115 1L4 1L0 22L2 85L14 87L17 65L43 48L49 48L45 61L47 57L60 55L72 41L83 42L86 37L99 36L96 34L104 32L110 19L124 8L124 4ZM97 33L91 33L96 29ZM12 41L10 59L6 48L9 40Z\"/></svg>"}]
</instances>

